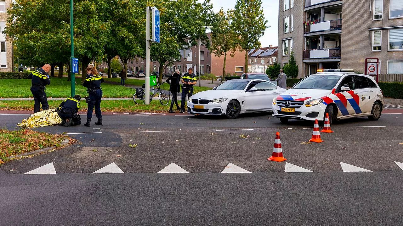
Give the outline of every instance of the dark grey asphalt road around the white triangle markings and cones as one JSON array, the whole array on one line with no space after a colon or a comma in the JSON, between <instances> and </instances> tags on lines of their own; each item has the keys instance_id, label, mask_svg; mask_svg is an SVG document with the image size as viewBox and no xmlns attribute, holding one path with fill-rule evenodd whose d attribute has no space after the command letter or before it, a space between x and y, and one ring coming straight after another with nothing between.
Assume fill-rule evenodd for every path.
<instances>
[{"instance_id":1,"label":"dark grey asphalt road around the white triangle markings and cones","mask_svg":"<svg viewBox=\"0 0 403 226\"><path fill-rule=\"evenodd\" d=\"M312 123L270 114L105 113L102 126L38 128L82 144L1 165L0 225L402 225L403 112L393 113L341 121L320 144L301 144ZM25 117L0 115L0 126ZM276 131L285 162L267 160ZM124 174L90 174L112 162ZM157 173L172 162L189 173ZM229 162L251 173L220 173ZM314 173L285 173L286 162ZM55 175L22 175L49 163Z\"/></svg>"}]
</instances>

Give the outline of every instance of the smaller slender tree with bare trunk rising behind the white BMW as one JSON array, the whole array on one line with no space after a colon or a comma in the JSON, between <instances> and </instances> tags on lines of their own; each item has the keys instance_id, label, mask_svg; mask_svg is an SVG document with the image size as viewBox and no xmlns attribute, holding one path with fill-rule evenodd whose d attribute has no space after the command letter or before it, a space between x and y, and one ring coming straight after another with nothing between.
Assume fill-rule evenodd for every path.
<instances>
[{"instance_id":1,"label":"smaller slender tree with bare trunk rising behind the white BMW","mask_svg":"<svg viewBox=\"0 0 403 226\"><path fill-rule=\"evenodd\" d=\"M233 21L234 11L224 10L216 13L216 21L213 24L212 36L211 36L211 52L214 55L221 57L224 55L224 66L222 68L222 79L224 81L225 67L226 67L226 57L227 53L230 52L231 57L234 57L235 51L237 50L237 35L231 29L231 22Z\"/></svg>"}]
</instances>

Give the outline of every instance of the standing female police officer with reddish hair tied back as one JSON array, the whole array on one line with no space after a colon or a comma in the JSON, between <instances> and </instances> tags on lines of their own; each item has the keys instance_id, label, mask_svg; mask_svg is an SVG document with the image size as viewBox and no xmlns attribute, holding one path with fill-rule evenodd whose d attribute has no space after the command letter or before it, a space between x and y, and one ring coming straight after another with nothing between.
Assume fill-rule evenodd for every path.
<instances>
[{"instance_id":1,"label":"standing female police officer with reddish hair tied back","mask_svg":"<svg viewBox=\"0 0 403 226\"><path fill-rule=\"evenodd\" d=\"M102 113L101 113L101 98L102 98L102 89L101 82L104 82L104 79L99 75L97 69L89 65L87 68L87 78L83 83L83 86L87 87L88 92L88 110L87 110L87 122L84 124L85 126L91 126L91 118L92 111L95 107L95 115L98 118L98 121L95 123L96 125L102 125Z\"/></svg>"}]
</instances>

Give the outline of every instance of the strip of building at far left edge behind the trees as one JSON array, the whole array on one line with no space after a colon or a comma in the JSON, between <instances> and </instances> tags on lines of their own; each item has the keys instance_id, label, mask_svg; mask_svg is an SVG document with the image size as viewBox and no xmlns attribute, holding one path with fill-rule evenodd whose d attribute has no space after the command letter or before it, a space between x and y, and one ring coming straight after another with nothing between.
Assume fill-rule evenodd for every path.
<instances>
[{"instance_id":1,"label":"strip of building at far left edge behind the trees","mask_svg":"<svg viewBox=\"0 0 403 226\"><path fill-rule=\"evenodd\" d=\"M0 72L12 72L12 43L3 34L8 18L7 8L11 0L0 0Z\"/></svg>"}]
</instances>

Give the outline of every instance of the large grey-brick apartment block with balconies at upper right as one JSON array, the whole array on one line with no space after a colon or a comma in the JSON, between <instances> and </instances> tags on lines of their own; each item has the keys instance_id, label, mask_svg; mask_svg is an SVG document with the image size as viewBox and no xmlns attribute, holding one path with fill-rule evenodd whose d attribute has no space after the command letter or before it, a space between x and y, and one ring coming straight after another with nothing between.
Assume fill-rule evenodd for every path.
<instances>
[{"instance_id":1,"label":"large grey-brick apartment block with balconies at upper right","mask_svg":"<svg viewBox=\"0 0 403 226\"><path fill-rule=\"evenodd\" d=\"M278 62L287 64L293 51L299 77L318 69L364 73L366 58L379 59L379 73L403 72L403 0L280 0L279 4Z\"/></svg>"}]
</instances>

